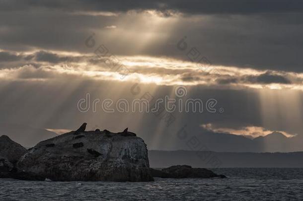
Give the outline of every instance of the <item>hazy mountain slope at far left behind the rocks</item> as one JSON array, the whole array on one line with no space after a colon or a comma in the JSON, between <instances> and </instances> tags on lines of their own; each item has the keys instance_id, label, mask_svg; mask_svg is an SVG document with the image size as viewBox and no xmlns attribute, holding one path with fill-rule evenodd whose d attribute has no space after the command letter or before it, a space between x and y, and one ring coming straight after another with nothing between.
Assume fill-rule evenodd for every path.
<instances>
[{"instance_id":1,"label":"hazy mountain slope at far left behind the rocks","mask_svg":"<svg viewBox=\"0 0 303 201\"><path fill-rule=\"evenodd\" d=\"M0 135L7 135L15 142L29 148L42 140L52 138L58 134L26 125L0 124Z\"/></svg>"}]
</instances>

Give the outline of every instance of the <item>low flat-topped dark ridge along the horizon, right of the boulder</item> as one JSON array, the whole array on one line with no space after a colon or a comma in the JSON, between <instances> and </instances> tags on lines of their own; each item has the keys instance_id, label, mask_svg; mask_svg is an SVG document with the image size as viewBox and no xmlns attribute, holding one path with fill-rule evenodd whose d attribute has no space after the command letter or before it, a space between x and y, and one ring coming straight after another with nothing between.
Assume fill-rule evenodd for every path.
<instances>
[{"instance_id":1,"label":"low flat-topped dark ridge along the horizon, right of the boulder","mask_svg":"<svg viewBox=\"0 0 303 201\"><path fill-rule=\"evenodd\" d=\"M236 153L213 151L149 151L150 167L191 165L205 168L303 168L303 152Z\"/></svg>"}]
</instances>

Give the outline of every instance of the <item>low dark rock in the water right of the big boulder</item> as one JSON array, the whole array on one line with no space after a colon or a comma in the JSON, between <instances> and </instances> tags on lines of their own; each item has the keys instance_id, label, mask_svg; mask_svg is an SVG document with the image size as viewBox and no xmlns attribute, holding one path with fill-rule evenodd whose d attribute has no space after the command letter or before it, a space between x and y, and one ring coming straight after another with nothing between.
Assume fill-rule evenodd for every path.
<instances>
[{"instance_id":1,"label":"low dark rock in the water right of the big boulder","mask_svg":"<svg viewBox=\"0 0 303 201\"><path fill-rule=\"evenodd\" d=\"M153 177L161 178L225 178L224 175L217 175L211 170L205 168L192 168L189 165L173 165L162 170L151 168L151 174Z\"/></svg>"}]
</instances>

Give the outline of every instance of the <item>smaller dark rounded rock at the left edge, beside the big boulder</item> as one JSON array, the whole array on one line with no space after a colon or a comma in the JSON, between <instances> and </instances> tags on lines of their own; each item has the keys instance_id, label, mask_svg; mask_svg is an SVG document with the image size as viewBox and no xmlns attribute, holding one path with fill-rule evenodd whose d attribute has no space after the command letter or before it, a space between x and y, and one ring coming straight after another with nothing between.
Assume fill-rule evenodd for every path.
<instances>
[{"instance_id":1,"label":"smaller dark rounded rock at the left edge, beside the big boulder","mask_svg":"<svg viewBox=\"0 0 303 201\"><path fill-rule=\"evenodd\" d=\"M14 142L8 136L0 136L0 158L5 158L10 163L16 163L26 152L26 148Z\"/></svg>"}]
</instances>

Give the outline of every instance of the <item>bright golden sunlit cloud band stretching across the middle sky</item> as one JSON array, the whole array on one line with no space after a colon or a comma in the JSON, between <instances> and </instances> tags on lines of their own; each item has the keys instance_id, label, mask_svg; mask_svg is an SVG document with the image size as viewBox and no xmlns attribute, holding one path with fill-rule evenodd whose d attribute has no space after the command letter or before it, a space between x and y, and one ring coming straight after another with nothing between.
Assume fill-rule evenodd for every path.
<instances>
[{"instance_id":1,"label":"bright golden sunlit cloud band stretching across the middle sky","mask_svg":"<svg viewBox=\"0 0 303 201\"><path fill-rule=\"evenodd\" d=\"M3 51L3 50L2 50ZM39 52L21 52L16 55L30 55ZM59 59L56 63L47 61L30 65L0 69L0 77L5 80L47 80L64 79L66 76L90 80L112 80L117 82L142 82L156 85L202 85L221 89L252 88L259 90L303 90L303 73L256 70L241 67L212 66L201 69L197 63L165 57L116 56L124 68L110 67L95 54L48 51ZM62 59L61 59L62 58ZM61 62L62 61L62 62ZM121 69L124 69L121 70ZM263 76L263 77L262 77ZM264 76L286 77L289 82L262 82ZM274 82L275 80L273 80Z\"/></svg>"}]
</instances>

